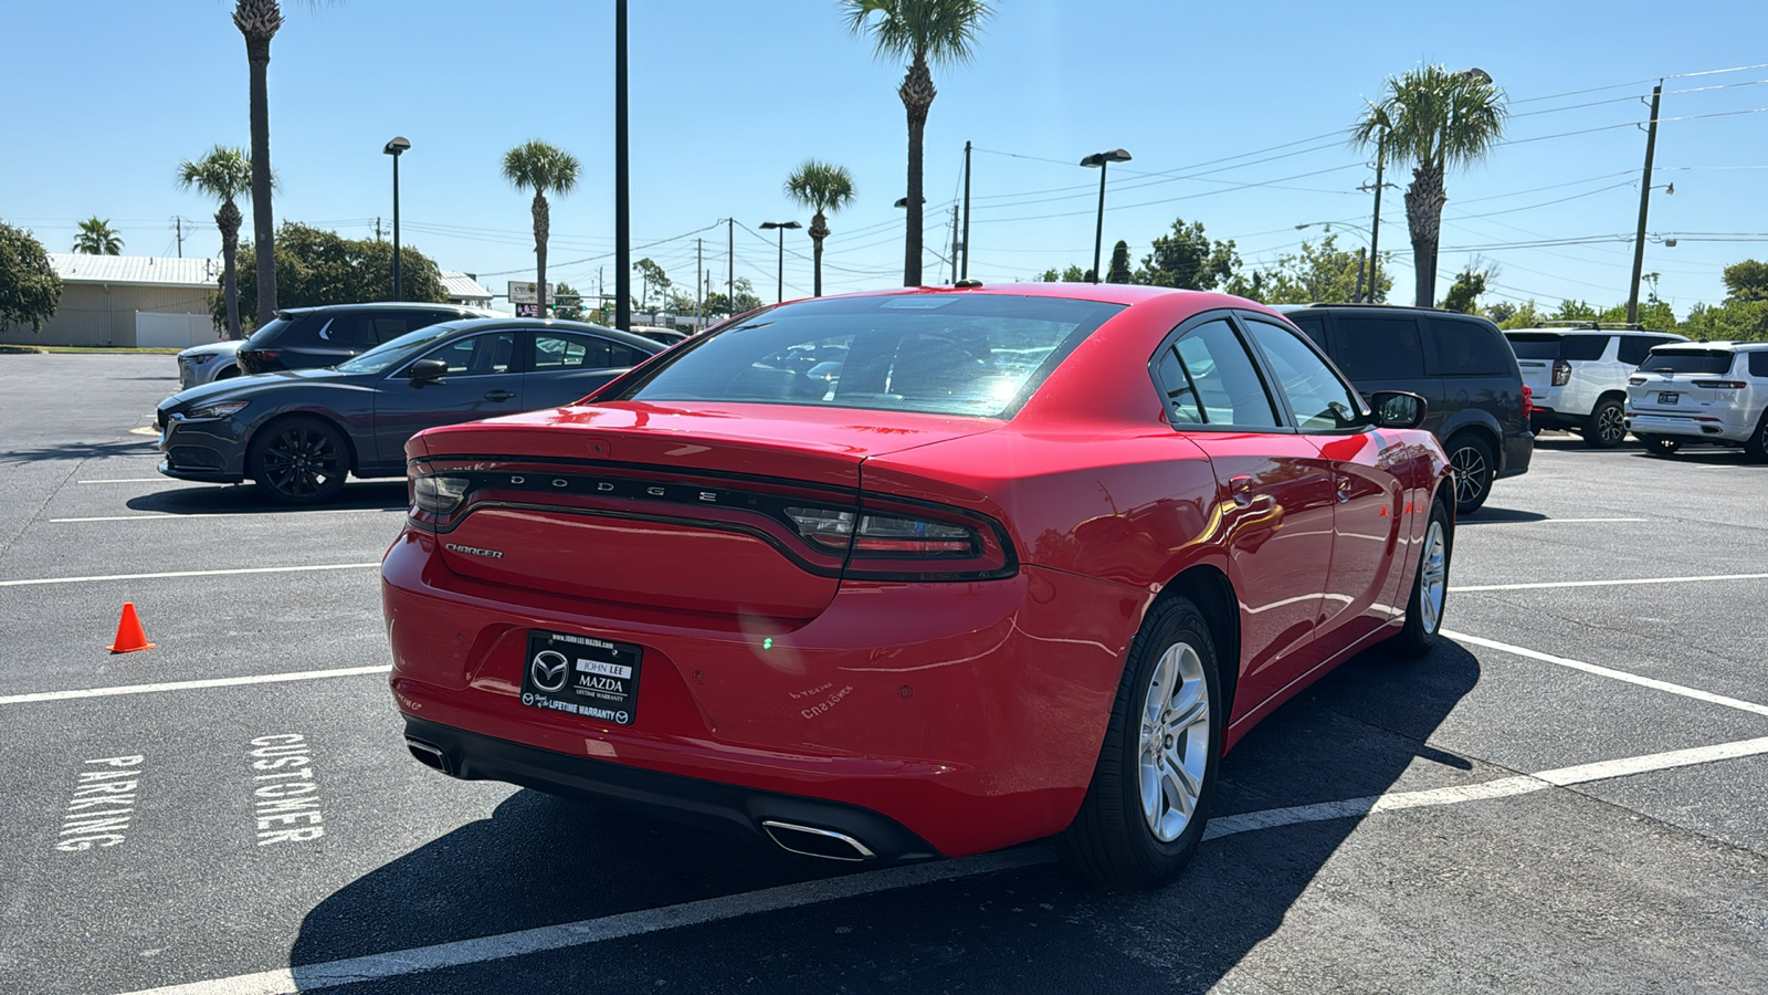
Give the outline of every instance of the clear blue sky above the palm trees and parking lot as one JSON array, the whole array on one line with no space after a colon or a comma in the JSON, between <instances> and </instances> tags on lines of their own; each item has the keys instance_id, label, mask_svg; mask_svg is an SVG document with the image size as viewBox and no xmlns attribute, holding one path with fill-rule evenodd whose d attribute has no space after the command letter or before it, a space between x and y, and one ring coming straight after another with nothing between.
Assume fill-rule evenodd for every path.
<instances>
[{"instance_id":1,"label":"clear blue sky above the palm trees and parking lot","mask_svg":"<svg viewBox=\"0 0 1768 995\"><path fill-rule=\"evenodd\" d=\"M196 221L184 253L217 253L214 205L179 191L173 170L216 142L248 143L230 9L11 5L0 218L67 251L76 221L99 214L126 251L171 255L182 216ZM550 274L594 290L599 271L612 290L612 0L285 9L271 62L278 220L354 237L373 234L375 216L391 223L380 147L405 135L407 244L502 290L532 271L534 253L527 197L499 161L545 138L583 161L578 191L553 204ZM1646 271L1685 313L1724 296L1726 264L1768 255L1768 113L1741 113L1768 108L1768 67L1696 76L1768 62L1763 37L1768 5L1757 2L1002 0L978 60L935 73L926 274L944 269L934 251L949 246L965 140L979 149L971 276L988 282L1091 264L1098 174L1075 163L1114 147L1135 159L1110 174L1107 251L1126 239L1140 258L1174 218L1236 239L1248 264L1317 237L1298 223L1340 221L1340 244L1363 244L1347 225L1368 225L1370 198L1356 188L1374 174L1342 133L1384 76L1441 62L1489 71L1515 101L1519 140L1450 175L1441 287L1478 255L1499 267L1497 296L1625 301L1644 154L1628 122L1648 117L1635 97L1669 76L1662 117L1688 120L1660 127L1655 182L1676 193L1653 195L1650 230L1678 244L1651 241ZM716 221L734 216L737 276L771 299L774 244L753 228L808 223L780 188L815 156L852 168L859 189L831 220L826 290L900 283L902 67L849 37L833 0L631 0L631 64L635 258L691 285L704 237L721 282ZM789 235L787 296L808 294L810 241ZM1565 239L1605 241L1538 244ZM1381 241L1409 248L1400 191L1384 200ZM1393 274L1395 299L1409 301L1404 257Z\"/></svg>"}]
</instances>

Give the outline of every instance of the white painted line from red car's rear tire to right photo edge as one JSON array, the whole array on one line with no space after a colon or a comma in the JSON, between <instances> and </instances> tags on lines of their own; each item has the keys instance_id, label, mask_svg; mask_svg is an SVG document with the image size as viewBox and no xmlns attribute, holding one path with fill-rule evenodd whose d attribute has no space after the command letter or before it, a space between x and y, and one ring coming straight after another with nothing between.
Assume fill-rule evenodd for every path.
<instances>
[{"instance_id":1,"label":"white painted line from red car's rear tire to right photo edge","mask_svg":"<svg viewBox=\"0 0 1768 995\"><path fill-rule=\"evenodd\" d=\"M1694 767L1696 763L1711 763L1715 760L1736 760L1740 756L1761 756L1761 754L1768 754L1768 737L1756 740L1717 744L1708 747L1653 752L1646 756L1630 756L1623 760L1605 760L1600 763L1584 763L1579 767L1559 767L1556 770L1519 774L1513 777L1499 777L1497 781L1482 781L1478 784L1460 784L1455 788L1393 791L1390 795L1345 798L1342 802L1321 802L1315 806L1296 806L1289 809L1266 809L1262 813L1243 813L1243 814L1209 820L1209 829L1204 830L1204 839L1218 839L1222 836L1234 836L1236 832L1252 832L1255 829L1275 829L1280 825L1296 825L1303 821L1358 818L1370 813L1391 813L1391 811L1418 809L1427 806L1453 806L1459 802L1508 798L1512 795L1528 795L1533 791L1542 791L1545 788L1566 788L1572 784L1588 784L1591 781L1607 781L1611 777L1627 777L1630 774L1646 774L1651 770L1673 770L1676 767Z\"/></svg>"}]
</instances>

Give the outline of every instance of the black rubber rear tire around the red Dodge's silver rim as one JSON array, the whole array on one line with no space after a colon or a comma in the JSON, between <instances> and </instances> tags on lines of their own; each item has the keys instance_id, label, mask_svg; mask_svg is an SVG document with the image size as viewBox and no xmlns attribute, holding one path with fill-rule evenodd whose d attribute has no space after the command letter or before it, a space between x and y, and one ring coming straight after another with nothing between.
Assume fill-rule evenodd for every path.
<instances>
[{"instance_id":1,"label":"black rubber rear tire around the red Dodge's silver rim","mask_svg":"<svg viewBox=\"0 0 1768 995\"><path fill-rule=\"evenodd\" d=\"M1172 839L1156 836L1149 816L1142 809L1142 726L1147 712L1147 698L1156 667L1160 667L1169 650L1183 657L1181 646L1190 646L1195 653L1197 682L1202 685L1202 713L1208 715L1209 729L1193 738L1195 726L1181 731L1179 737L1167 737L1172 744L1167 749L1190 752L1202 747L1202 777L1197 779L1197 795L1183 830L1174 821L1167 829L1174 830ZM1183 682L1190 687L1192 682ZM1169 698L1169 703L1172 699ZM1195 708L1195 701L1192 706ZM1100 747L1100 760L1093 770L1093 783L1087 786L1086 800L1075 821L1057 839L1063 864L1082 878L1107 887L1155 887L1170 882L1190 864L1204 837L1204 825L1209 821L1209 802L1215 797L1216 768L1222 758L1222 726L1227 713L1222 701L1222 680L1216 667L1215 639L1202 613L1188 598L1165 598L1147 613L1142 630L1130 644L1128 664L1117 685L1117 699L1112 706L1110 726L1105 729L1105 744ZM1162 712L1165 719L1167 712ZM1195 754L1193 754L1195 756ZM1185 777L1190 777L1188 774ZM1176 783L1181 783L1177 775ZM1156 775L1155 788L1165 781ZM1162 798L1167 795L1162 793ZM1156 807L1162 807L1156 802ZM1169 814L1176 814L1169 813Z\"/></svg>"}]
</instances>

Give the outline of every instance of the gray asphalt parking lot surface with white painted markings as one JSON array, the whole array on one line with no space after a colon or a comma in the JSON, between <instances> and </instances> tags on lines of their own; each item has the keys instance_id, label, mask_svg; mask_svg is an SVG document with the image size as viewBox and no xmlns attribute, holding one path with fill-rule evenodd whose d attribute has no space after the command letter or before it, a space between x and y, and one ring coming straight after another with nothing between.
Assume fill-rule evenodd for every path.
<instances>
[{"instance_id":1,"label":"gray asphalt parking lot surface with white painted markings","mask_svg":"<svg viewBox=\"0 0 1768 995\"><path fill-rule=\"evenodd\" d=\"M1542 439L1460 524L1453 643L1285 705L1192 869L1103 892L1041 845L843 873L419 767L375 570L403 482L159 478L131 428L173 390L0 356L0 991L1768 991L1740 453ZM126 600L157 646L113 657ZM316 806L267 804L279 756Z\"/></svg>"}]
</instances>

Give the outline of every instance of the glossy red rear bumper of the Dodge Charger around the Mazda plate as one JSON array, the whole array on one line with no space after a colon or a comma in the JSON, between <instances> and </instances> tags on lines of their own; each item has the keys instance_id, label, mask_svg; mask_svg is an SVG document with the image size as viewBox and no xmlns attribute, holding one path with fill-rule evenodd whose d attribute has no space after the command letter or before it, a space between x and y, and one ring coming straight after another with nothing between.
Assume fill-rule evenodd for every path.
<instances>
[{"instance_id":1,"label":"glossy red rear bumper of the Dodge Charger around the Mazda plate","mask_svg":"<svg viewBox=\"0 0 1768 995\"><path fill-rule=\"evenodd\" d=\"M401 535L382 565L394 701L469 735L463 770L624 797L603 790L601 774L580 774L587 768L474 756L484 738L500 740L594 760L594 770L684 779L649 788L665 797L647 804L665 809L704 809L697 784L716 783L743 798L872 813L948 857L1045 837L1073 820L1147 597L1024 567L1002 581L843 582L817 618L780 621L476 581L449 570L419 531ZM635 722L523 705L529 629L642 646ZM762 811L730 802L716 818L755 830ZM842 825L831 820L817 825Z\"/></svg>"}]
</instances>

